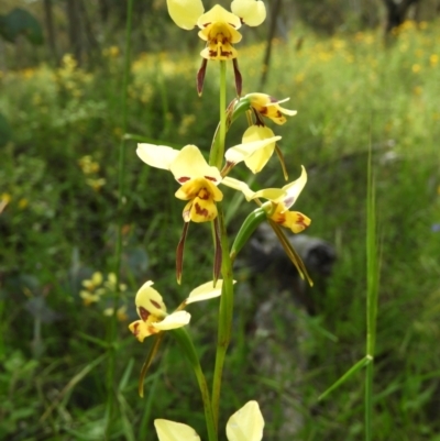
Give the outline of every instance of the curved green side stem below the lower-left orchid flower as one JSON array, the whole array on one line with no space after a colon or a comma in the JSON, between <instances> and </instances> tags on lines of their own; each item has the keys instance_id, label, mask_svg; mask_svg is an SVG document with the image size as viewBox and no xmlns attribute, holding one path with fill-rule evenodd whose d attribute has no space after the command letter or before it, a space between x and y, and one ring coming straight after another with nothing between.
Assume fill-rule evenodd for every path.
<instances>
[{"instance_id":1,"label":"curved green side stem below the lower-left orchid flower","mask_svg":"<svg viewBox=\"0 0 440 441\"><path fill-rule=\"evenodd\" d=\"M201 399L204 401L205 408L205 419L208 430L208 439L209 441L217 441L217 423L215 421L212 415L211 400L209 396L209 388L207 381L205 378L204 371L200 365L199 357L197 355L196 348L194 346L193 340L189 337L186 328L174 329L170 331L173 337L177 340L180 345L182 351L185 353L189 363L194 368L194 373L196 374L197 383L199 384Z\"/></svg>"}]
</instances>

